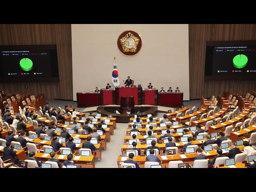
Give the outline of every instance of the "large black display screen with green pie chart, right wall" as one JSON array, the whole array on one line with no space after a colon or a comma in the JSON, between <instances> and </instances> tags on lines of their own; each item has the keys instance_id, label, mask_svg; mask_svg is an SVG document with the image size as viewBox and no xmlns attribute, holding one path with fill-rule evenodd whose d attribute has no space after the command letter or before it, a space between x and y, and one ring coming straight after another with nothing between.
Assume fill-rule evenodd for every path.
<instances>
[{"instance_id":1,"label":"large black display screen with green pie chart, right wall","mask_svg":"<svg viewBox=\"0 0 256 192\"><path fill-rule=\"evenodd\" d=\"M205 80L255 80L256 41L206 43Z\"/></svg>"}]
</instances>

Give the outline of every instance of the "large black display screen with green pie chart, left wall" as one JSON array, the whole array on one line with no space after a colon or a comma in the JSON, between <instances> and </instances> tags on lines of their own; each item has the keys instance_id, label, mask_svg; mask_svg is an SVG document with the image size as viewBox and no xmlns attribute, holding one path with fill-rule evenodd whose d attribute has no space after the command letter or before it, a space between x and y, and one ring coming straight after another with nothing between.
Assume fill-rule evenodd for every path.
<instances>
[{"instance_id":1,"label":"large black display screen with green pie chart, left wall","mask_svg":"<svg viewBox=\"0 0 256 192\"><path fill-rule=\"evenodd\" d=\"M0 46L1 82L58 81L56 45Z\"/></svg>"}]
</instances>

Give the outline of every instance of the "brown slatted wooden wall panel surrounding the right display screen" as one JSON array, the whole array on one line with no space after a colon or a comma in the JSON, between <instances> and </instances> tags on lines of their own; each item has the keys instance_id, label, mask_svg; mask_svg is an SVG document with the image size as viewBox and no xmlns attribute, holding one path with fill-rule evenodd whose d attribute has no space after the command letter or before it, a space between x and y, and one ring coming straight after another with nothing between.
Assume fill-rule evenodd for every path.
<instances>
[{"instance_id":1,"label":"brown slatted wooden wall panel surrounding the right display screen","mask_svg":"<svg viewBox=\"0 0 256 192\"><path fill-rule=\"evenodd\" d=\"M222 95L224 91L247 93L256 81L204 80L206 41L256 40L256 24L189 24L190 99ZM230 88L234 86L234 88Z\"/></svg>"}]
</instances>

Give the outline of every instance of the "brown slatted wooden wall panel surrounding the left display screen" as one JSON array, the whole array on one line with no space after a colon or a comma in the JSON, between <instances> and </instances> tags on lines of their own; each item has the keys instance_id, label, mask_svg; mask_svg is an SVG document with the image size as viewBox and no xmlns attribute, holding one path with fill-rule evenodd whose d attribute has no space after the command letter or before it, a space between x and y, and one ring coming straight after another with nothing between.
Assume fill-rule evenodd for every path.
<instances>
[{"instance_id":1,"label":"brown slatted wooden wall panel surrounding the left display screen","mask_svg":"<svg viewBox=\"0 0 256 192\"><path fill-rule=\"evenodd\" d=\"M0 90L73 99L71 24L0 24L0 45L56 44L60 82L1 83ZM25 89L28 87L28 89Z\"/></svg>"}]
</instances>

